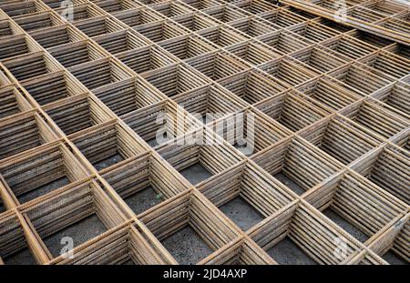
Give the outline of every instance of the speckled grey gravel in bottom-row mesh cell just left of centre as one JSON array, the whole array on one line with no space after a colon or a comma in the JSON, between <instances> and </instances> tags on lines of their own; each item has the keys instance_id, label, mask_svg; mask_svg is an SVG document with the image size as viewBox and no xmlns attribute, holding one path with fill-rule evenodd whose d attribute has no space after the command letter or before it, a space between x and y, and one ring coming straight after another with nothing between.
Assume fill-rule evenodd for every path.
<instances>
[{"instance_id":1,"label":"speckled grey gravel in bottom-row mesh cell just left of centre","mask_svg":"<svg viewBox=\"0 0 410 283\"><path fill-rule=\"evenodd\" d=\"M190 226L180 229L161 243L183 265L196 264L213 252Z\"/></svg>"}]
</instances>

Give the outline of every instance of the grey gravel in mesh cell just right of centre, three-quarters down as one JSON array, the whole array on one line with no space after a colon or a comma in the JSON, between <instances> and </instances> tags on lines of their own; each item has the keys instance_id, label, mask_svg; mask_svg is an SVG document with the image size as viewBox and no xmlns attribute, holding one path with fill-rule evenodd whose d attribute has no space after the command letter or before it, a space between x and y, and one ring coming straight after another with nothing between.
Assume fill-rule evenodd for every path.
<instances>
[{"instance_id":1,"label":"grey gravel in mesh cell just right of centre, three-quarters down","mask_svg":"<svg viewBox=\"0 0 410 283\"><path fill-rule=\"evenodd\" d=\"M241 197L235 197L220 207L227 217L229 217L243 231L248 230L263 220L263 217L253 207L251 207Z\"/></svg>"}]
</instances>

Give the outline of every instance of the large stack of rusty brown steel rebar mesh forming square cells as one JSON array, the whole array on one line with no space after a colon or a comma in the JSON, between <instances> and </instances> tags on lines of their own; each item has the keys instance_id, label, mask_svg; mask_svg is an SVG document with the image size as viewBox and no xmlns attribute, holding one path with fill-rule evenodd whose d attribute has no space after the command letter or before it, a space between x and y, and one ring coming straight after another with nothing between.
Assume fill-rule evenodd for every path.
<instances>
[{"instance_id":1,"label":"large stack of rusty brown steel rebar mesh forming square cells","mask_svg":"<svg viewBox=\"0 0 410 283\"><path fill-rule=\"evenodd\" d=\"M193 264L277 264L285 238L319 264L410 261L403 5L347 1L395 30L380 41L263 0L74 0L71 22L60 0L3 2L0 264L22 250L37 264L178 264L164 241L185 227L210 248ZM251 152L218 126L235 116ZM184 177L194 165L209 176ZM155 202L135 210L128 197L147 189ZM225 215L236 198L261 220ZM87 217L100 229L60 254L48 237Z\"/></svg>"}]
</instances>

